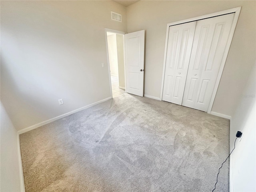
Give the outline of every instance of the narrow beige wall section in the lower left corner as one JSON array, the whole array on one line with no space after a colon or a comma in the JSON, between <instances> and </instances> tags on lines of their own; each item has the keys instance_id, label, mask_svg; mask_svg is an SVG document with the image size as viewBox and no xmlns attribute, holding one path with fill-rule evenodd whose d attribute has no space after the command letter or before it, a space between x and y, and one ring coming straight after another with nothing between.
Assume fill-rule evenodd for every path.
<instances>
[{"instance_id":1,"label":"narrow beige wall section in the lower left corner","mask_svg":"<svg viewBox=\"0 0 256 192\"><path fill-rule=\"evenodd\" d=\"M0 124L0 150L1 150L1 166L0 166L0 191L2 192L18 192L21 191L20 186L20 170L18 163L18 133L14 128L2 102L1 108L1 124Z\"/></svg>"}]
</instances>

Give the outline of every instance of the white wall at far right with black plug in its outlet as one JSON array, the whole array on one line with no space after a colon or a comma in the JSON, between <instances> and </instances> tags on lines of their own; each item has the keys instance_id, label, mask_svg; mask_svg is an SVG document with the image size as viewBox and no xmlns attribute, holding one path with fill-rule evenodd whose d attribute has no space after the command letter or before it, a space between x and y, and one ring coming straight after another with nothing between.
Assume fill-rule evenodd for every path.
<instances>
[{"instance_id":1,"label":"white wall at far right with black plug in its outlet","mask_svg":"<svg viewBox=\"0 0 256 192\"><path fill-rule=\"evenodd\" d=\"M256 191L256 70L254 65L230 123L230 150L234 148L236 132L243 133L237 139L230 156L230 191Z\"/></svg>"}]
</instances>

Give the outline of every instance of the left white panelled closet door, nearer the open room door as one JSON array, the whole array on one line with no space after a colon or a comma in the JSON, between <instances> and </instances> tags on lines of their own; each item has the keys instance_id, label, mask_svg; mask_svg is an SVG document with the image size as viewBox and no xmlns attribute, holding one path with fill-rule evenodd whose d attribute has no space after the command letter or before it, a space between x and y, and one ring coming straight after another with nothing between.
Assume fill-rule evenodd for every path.
<instances>
[{"instance_id":1,"label":"left white panelled closet door, nearer the open room door","mask_svg":"<svg viewBox=\"0 0 256 192\"><path fill-rule=\"evenodd\" d=\"M196 21L169 27L162 100L178 105L182 97Z\"/></svg>"}]
</instances>

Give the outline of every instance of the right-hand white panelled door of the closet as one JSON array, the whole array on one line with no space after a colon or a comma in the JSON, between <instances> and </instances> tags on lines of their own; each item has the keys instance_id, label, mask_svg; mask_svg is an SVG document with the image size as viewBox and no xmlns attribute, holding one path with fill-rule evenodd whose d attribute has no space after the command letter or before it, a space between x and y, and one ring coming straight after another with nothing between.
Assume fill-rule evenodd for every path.
<instances>
[{"instance_id":1,"label":"right-hand white panelled door of the closet","mask_svg":"<svg viewBox=\"0 0 256 192\"><path fill-rule=\"evenodd\" d=\"M197 21L183 106L208 110L233 18L234 13Z\"/></svg>"}]
</instances>

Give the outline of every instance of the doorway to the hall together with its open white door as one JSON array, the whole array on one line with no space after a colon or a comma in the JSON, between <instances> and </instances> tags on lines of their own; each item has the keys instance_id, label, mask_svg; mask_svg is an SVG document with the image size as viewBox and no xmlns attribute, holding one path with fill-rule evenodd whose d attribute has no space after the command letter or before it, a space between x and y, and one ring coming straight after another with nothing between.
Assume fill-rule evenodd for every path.
<instances>
[{"instance_id":1,"label":"doorway to the hall together with its open white door","mask_svg":"<svg viewBox=\"0 0 256 192\"><path fill-rule=\"evenodd\" d=\"M127 92L143 97L145 30L125 34L105 28L105 36L111 96Z\"/></svg>"}]
</instances>

